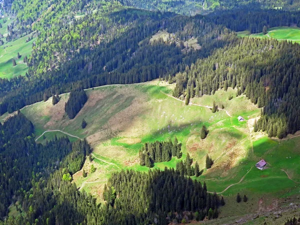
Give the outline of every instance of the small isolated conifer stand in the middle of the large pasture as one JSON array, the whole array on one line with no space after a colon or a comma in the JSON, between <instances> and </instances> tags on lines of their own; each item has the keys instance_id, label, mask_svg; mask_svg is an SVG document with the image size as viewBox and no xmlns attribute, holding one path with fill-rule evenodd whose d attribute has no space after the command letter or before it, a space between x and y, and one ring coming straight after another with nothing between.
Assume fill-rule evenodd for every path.
<instances>
[{"instance_id":1,"label":"small isolated conifer stand in the middle of the large pasture","mask_svg":"<svg viewBox=\"0 0 300 225\"><path fill-rule=\"evenodd\" d=\"M154 162L169 161L172 156L181 158L181 143L175 137L174 142L171 138L167 141L147 142L139 150L139 163L147 167L152 167Z\"/></svg>"}]
</instances>

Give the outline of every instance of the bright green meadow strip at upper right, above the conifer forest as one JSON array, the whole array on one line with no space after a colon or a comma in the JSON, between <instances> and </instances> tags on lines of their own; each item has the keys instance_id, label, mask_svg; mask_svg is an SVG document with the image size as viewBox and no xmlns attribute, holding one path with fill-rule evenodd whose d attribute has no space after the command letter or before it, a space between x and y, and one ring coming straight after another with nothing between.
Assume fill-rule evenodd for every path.
<instances>
[{"instance_id":1,"label":"bright green meadow strip at upper right, above the conifer forest","mask_svg":"<svg viewBox=\"0 0 300 225\"><path fill-rule=\"evenodd\" d=\"M289 26L278 26L272 27L267 30L267 34L253 33L250 34L249 31L240 31L237 32L237 36L250 36L250 37L259 37L259 38L275 38L277 40L291 40L293 42L300 42L300 28L298 27L289 27Z\"/></svg>"}]
</instances>

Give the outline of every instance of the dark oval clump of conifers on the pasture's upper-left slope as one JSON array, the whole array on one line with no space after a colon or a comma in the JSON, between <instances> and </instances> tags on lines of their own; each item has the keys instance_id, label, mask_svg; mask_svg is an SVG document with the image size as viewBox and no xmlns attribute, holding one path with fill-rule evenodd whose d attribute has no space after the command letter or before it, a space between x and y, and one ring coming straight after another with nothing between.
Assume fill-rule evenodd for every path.
<instances>
[{"instance_id":1,"label":"dark oval clump of conifers on the pasture's upper-left slope","mask_svg":"<svg viewBox=\"0 0 300 225\"><path fill-rule=\"evenodd\" d=\"M71 90L69 99L65 103L64 110L70 119L73 119L87 101L87 95L81 88Z\"/></svg>"}]
</instances>

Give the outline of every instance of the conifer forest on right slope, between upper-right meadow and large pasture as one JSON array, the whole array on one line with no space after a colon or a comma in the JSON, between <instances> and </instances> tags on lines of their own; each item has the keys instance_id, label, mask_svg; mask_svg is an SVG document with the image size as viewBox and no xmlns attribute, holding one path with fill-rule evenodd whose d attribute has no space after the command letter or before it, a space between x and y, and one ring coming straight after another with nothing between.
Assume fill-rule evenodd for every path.
<instances>
[{"instance_id":1,"label":"conifer forest on right slope, between upper-right meadow and large pasture","mask_svg":"<svg viewBox=\"0 0 300 225\"><path fill-rule=\"evenodd\" d=\"M231 86L263 107L257 129L286 136L300 128L298 70L300 45L274 39L235 38L205 59L176 74L174 96L195 96Z\"/></svg>"}]
</instances>

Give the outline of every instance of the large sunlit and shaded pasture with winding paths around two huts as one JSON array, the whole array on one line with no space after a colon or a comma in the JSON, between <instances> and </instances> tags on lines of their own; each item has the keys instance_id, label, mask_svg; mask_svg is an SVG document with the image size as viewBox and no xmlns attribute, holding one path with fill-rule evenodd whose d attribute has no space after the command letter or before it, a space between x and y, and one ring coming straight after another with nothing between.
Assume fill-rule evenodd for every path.
<instances>
[{"instance_id":1,"label":"large sunlit and shaded pasture with winding paths around two huts","mask_svg":"<svg viewBox=\"0 0 300 225\"><path fill-rule=\"evenodd\" d=\"M80 190L97 196L99 202L103 201L102 189L111 172L126 168L149 170L140 166L138 161L138 151L145 142L168 137L173 140L175 136L182 143L182 158L173 157L168 162L155 163L154 168L175 168L176 162L184 160L188 152L193 163L197 161L200 169L204 169L202 175L192 178L206 182L208 191L216 191L230 201L237 192L249 196L249 203L242 203L239 209L240 215L257 210L260 197L267 204L299 192L300 166L297 161L300 156L292 155L300 155L297 147L300 137L294 135L276 140L262 132L254 133L252 125L260 109L244 95L236 96L236 89L217 90L214 95L194 97L191 104L185 105L171 96L173 87L174 84L154 80L87 89L87 102L71 120L64 112L68 93L61 94L56 105L52 105L50 97L46 102L24 107L21 112L33 122L36 137L45 130L58 129L87 138L93 148L92 160L87 157L83 166L88 174L83 177L82 169L73 174L73 180ZM219 105L216 113L209 108L213 101ZM238 121L239 115L245 121ZM87 122L84 129L81 128L83 118ZM209 133L202 140L200 129L203 124ZM51 139L54 134L63 135L48 132L45 139L40 137L38 141ZM204 168L206 154L214 160L210 169ZM260 159L267 162L264 170L254 166ZM90 172L91 164L96 167L93 173ZM220 218L222 210L223 214L235 215L233 206L223 207Z\"/></svg>"}]
</instances>

